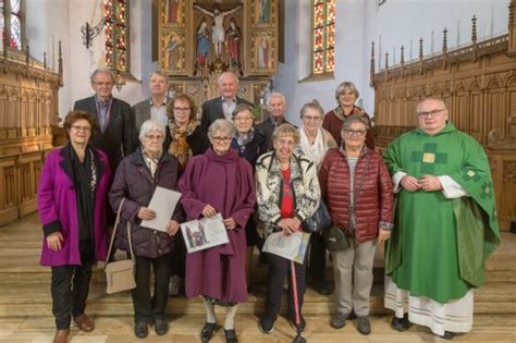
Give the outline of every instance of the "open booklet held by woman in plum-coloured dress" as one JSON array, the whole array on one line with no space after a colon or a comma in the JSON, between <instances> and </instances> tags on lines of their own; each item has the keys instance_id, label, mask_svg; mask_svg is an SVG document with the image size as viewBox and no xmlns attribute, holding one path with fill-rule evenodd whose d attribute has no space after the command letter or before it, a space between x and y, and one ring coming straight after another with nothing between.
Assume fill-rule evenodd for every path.
<instances>
[{"instance_id":1,"label":"open booklet held by woman in plum-coloured dress","mask_svg":"<svg viewBox=\"0 0 516 343\"><path fill-rule=\"evenodd\" d=\"M182 223L181 231L188 254L230 242L221 213Z\"/></svg>"}]
</instances>

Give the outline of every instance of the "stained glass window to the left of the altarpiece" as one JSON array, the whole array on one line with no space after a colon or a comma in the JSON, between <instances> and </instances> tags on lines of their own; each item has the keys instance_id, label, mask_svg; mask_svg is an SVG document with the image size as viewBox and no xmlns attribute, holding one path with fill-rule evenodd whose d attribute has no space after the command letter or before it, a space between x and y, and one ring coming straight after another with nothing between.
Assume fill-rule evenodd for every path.
<instances>
[{"instance_id":1,"label":"stained glass window to the left of the altarpiece","mask_svg":"<svg viewBox=\"0 0 516 343\"><path fill-rule=\"evenodd\" d=\"M105 0L106 66L120 71L130 70L128 0Z\"/></svg>"}]
</instances>

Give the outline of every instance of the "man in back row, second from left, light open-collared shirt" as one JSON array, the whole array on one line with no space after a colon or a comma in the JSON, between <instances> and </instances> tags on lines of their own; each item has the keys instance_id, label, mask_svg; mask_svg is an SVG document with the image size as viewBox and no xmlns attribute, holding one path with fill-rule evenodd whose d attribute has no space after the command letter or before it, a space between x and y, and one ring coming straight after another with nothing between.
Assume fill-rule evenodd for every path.
<instances>
[{"instance_id":1,"label":"man in back row, second from left, light open-collared shirt","mask_svg":"<svg viewBox=\"0 0 516 343\"><path fill-rule=\"evenodd\" d=\"M167 97L169 89L169 77L163 71L157 70L149 74L149 91L150 99L133 106L136 135L139 134L142 124L149 119L157 120L167 126L169 118L167 117L167 108L170 99Z\"/></svg>"}]
</instances>

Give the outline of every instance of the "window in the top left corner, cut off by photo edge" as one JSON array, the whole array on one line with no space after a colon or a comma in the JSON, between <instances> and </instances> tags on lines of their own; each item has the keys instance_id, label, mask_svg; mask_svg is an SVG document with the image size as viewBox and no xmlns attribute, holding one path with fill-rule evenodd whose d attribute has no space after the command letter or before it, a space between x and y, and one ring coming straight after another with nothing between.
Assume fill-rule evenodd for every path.
<instances>
[{"instance_id":1,"label":"window in the top left corner, cut off by photo edge","mask_svg":"<svg viewBox=\"0 0 516 343\"><path fill-rule=\"evenodd\" d=\"M16 50L25 49L25 0L0 0L1 13L1 47L8 42L9 47Z\"/></svg>"}]
</instances>

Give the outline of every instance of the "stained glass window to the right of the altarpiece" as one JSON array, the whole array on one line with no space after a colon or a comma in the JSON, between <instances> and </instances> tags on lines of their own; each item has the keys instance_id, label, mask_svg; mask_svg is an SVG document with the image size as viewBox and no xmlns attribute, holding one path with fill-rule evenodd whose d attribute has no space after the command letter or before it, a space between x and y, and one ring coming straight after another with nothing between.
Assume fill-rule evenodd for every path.
<instances>
[{"instance_id":1,"label":"stained glass window to the right of the altarpiece","mask_svg":"<svg viewBox=\"0 0 516 343\"><path fill-rule=\"evenodd\" d=\"M335 66L335 0L312 0L312 74L331 73Z\"/></svg>"}]
</instances>

